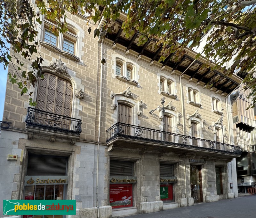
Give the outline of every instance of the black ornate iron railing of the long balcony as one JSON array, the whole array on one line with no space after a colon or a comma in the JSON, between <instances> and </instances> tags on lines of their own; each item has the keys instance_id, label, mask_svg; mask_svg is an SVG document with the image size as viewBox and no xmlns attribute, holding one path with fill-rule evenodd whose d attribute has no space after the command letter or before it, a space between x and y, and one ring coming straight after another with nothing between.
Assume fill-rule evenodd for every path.
<instances>
[{"instance_id":1,"label":"black ornate iron railing of the long balcony","mask_svg":"<svg viewBox=\"0 0 256 218\"><path fill-rule=\"evenodd\" d=\"M241 154L241 148L222 142L199 139L187 135L174 134L156 129L133 126L125 123L116 123L107 130L107 142L116 137L123 137L145 142L155 142L177 147L195 148L210 151L221 151L222 153Z\"/></svg>"}]
</instances>

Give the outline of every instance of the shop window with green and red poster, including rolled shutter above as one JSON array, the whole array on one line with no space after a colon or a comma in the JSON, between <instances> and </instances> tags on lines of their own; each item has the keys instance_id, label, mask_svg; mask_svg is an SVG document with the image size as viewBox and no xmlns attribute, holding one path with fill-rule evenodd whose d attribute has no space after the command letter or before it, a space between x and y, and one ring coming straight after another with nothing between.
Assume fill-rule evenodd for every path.
<instances>
[{"instance_id":1,"label":"shop window with green and red poster, including rolled shutter above","mask_svg":"<svg viewBox=\"0 0 256 218\"><path fill-rule=\"evenodd\" d=\"M160 164L160 199L163 203L174 202L174 183L164 182L173 178L173 164Z\"/></svg>"}]
</instances>

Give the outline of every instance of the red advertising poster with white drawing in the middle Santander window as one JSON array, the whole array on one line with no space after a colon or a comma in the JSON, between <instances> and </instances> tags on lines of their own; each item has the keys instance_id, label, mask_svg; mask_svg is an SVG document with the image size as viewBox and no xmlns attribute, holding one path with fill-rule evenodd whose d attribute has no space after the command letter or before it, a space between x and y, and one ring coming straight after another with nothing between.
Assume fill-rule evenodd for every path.
<instances>
[{"instance_id":1,"label":"red advertising poster with white drawing in the middle Santander window","mask_svg":"<svg viewBox=\"0 0 256 218\"><path fill-rule=\"evenodd\" d=\"M132 207L132 184L109 184L109 205L112 208Z\"/></svg>"}]
</instances>

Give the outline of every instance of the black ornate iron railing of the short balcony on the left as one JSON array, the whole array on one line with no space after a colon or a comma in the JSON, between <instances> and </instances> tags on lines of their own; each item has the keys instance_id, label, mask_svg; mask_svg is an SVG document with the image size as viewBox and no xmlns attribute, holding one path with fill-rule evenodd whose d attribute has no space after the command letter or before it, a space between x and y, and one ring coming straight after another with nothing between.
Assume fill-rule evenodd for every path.
<instances>
[{"instance_id":1,"label":"black ornate iron railing of the short balcony on the left","mask_svg":"<svg viewBox=\"0 0 256 218\"><path fill-rule=\"evenodd\" d=\"M80 135L81 120L28 107L26 126Z\"/></svg>"}]
</instances>

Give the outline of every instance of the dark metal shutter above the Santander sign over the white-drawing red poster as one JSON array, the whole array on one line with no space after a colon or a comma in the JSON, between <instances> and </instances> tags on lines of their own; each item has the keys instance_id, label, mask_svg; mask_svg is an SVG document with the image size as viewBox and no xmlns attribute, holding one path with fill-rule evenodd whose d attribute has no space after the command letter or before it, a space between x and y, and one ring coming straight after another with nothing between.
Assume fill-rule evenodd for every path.
<instances>
[{"instance_id":1,"label":"dark metal shutter above the Santander sign over the white-drawing red poster","mask_svg":"<svg viewBox=\"0 0 256 218\"><path fill-rule=\"evenodd\" d=\"M110 176L133 176L133 162L110 160Z\"/></svg>"}]
</instances>

